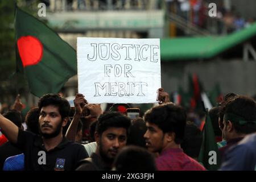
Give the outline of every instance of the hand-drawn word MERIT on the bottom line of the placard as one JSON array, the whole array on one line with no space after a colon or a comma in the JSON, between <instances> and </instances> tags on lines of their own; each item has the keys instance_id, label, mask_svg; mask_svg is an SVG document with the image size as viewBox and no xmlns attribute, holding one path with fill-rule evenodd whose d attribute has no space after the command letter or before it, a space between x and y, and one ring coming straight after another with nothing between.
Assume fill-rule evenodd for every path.
<instances>
[{"instance_id":1,"label":"hand-drawn word MERIT on the bottom line of the placard","mask_svg":"<svg viewBox=\"0 0 256 182\"><path fill-rule=\"evenodd\" d=\"M98 97L104 94L104 96L145 96L143 93L144 86L147 86L146 82L105 82L103 85L100 82L94 82L95 94L94 97ZM135 87L136 93L135 93ZM103 92L102 92L103 91ZM100 93L101 92L101 93Z\"/></svg>"}]
</instances>

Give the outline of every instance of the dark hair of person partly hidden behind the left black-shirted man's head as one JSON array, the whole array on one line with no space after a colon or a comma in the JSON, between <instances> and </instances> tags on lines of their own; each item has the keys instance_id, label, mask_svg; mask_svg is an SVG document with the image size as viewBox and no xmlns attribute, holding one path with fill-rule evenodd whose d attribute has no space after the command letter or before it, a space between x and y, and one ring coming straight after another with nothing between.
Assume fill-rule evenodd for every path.
<instances>
[{"instance_id":1,"label":"dark hair of person partly hidden behind the left black-shirted man's head","mask_svg":"<svg viewBox=\"0 0 256 182\"><path fill-rule=\"evenodd\" d=\"M30 109L26 115L25 122L27 124L27 130L32 133L39 135L39 109L38 107L33 107Z\"/></svg>"}]
</instances>

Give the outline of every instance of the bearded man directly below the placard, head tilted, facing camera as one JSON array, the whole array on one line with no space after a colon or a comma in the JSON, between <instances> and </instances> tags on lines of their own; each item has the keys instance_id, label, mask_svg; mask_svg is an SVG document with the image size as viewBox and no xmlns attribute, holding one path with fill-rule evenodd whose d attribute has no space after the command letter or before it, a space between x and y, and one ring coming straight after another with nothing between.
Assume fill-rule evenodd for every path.
<instances>
[{"instance_id":1,"label":"bearded man directly below the placard, head tilted, facing camera","mask_svg":"<svg viewBox=\"0 0 256 182\"><path fill-rule=\"evenodd\" d=\"M119 112L100 115L94 133L97 142L96 152L90 158L82 160L76 170L111 170L115 156L126 146L130 125L130 118Z\"/></svg>"}]
</instances>

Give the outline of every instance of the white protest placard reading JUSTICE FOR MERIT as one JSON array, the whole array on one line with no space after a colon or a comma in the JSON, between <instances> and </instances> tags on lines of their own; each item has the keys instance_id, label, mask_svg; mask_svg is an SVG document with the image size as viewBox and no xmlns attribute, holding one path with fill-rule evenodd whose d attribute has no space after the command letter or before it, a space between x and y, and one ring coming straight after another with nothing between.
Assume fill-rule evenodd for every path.
<instances>
[{"instance_id":1,"label":"white protest placard reading JUSTICE FOR MERIT","mask_svg":"<svg viewBox=\"0 0 256 182\"><path fill-rule=\"evenodd\" d=\"M77 38L77 75L89 103L154 103L161 87L160 40Z\"/></svg>"}]
</instances>

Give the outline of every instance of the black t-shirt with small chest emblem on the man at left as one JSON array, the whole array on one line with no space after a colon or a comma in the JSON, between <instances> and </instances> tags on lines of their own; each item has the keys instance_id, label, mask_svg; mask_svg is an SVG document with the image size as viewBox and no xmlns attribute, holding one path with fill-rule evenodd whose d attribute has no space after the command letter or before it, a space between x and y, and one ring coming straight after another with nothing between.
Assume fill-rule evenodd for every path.
<instances>
[{"instance_id":1,"label":"black t-shirt with small chest emblem on the man at left","mask_svg":"<svg viewBox=\"0 0 256 182\"><path fill-rule=\"evenodd\" d=\"M24 153L25 170L28 171L71 171L81 159L88 158L84 146L65 137L58 146L46 151L42 137L19 130L16 146Z\"/></svg>"}]
</instances>

